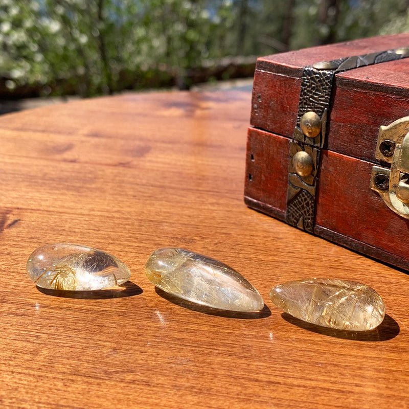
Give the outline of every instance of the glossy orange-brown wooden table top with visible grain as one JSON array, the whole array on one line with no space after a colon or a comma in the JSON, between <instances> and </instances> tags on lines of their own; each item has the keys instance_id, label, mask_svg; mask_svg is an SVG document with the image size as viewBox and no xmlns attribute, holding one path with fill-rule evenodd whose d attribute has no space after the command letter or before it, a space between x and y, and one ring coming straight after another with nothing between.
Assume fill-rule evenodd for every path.
<instances>
[{"instance_id":1,"label":"glossy orange-brown wooden table top with visible grain","mask_svg":"<svg viewBox=\"0 0 409 409\"><path fill-rule=\"evenodd\" d=\"M0 118L2 408L409 407L409 277L245 207L250 108L240 90L168 92ZM54 242L116 255L131 281L40 291L26 260ZM165 246L236 268L265 309L211 314L155 291L143 266ZM269 300L312 276L375 288L383 324L320 329Z\"/></svg>"}]
</instances>

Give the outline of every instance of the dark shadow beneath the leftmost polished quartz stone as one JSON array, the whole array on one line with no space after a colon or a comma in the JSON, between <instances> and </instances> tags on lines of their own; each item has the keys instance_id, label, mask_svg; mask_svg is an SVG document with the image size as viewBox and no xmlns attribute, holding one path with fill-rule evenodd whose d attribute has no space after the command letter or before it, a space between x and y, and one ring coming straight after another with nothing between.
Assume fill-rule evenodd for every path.
<instances>
[{"instance_id":1,"label":"dark shadow beneath the leftmost polished quartz stone","mask_svg":"<svg viewBox=\"0 0 409 409\"><path fill-rule=\"evenodd\" d=\"M143 293L142 288L139 285L127 281L115 288L106 288L103 290L90 290L90 291L72 291L72 290L52 290L49 288L42 288L36 285L37 290L43 294L53 297L63 298L76 298L82 300L103 300L109 298L122 298L139 296Z\"/></svg>"}]
</instances>

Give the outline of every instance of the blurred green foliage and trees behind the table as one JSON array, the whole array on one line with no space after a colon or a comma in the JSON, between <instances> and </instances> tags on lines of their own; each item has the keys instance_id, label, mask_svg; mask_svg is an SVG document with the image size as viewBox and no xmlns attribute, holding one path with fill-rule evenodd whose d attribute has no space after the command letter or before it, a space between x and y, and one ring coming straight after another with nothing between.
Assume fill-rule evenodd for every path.
<instances>
[{"instance_id":1,"label":"blurred green foliage and trees behind the table","mask_svg":"<svg viewBox=\"0 0 409 409\"><path fill-rule=\"evenodd\" d=\"M91 96L170 83L234 55L409 30L409 0L2 0L9 90Z\"/></svg>"}]
</instances>

